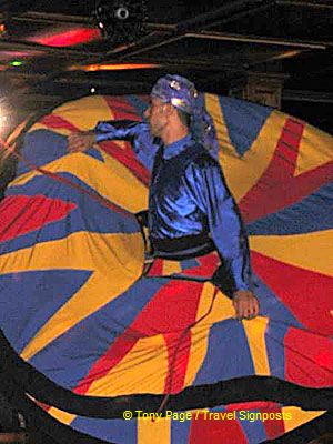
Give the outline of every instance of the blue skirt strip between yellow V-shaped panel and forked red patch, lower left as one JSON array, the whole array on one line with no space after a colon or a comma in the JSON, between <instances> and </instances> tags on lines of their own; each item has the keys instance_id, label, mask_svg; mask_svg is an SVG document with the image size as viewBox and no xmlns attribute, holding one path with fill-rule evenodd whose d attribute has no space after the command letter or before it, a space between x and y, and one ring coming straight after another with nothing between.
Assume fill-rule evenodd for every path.
<instances>
[{"instance_id":1,"label":"blue skirt strip between yellow V-shaped panel and forked red patch, lower left","mask_svg":"<svg viewBox=\"0 0 333 444\"><path fill-rule=\"evenodd\" d=\"M31 364L57 384L77 387L163 284L165 281L155 279L137 281L125 293L56 339L32 357Z\"/></svg>"}]
</instances>

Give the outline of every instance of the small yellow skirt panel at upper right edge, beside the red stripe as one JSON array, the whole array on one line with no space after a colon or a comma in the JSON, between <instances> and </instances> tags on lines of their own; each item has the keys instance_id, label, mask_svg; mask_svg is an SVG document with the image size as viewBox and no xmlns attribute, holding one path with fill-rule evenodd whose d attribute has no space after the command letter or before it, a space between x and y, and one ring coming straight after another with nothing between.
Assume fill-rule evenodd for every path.
<instances>
[{"instance_id":1,"label":"small yellow skirt panel at upper right edge, beside the red stripe","mask_svg":"<svg viewBox=\"0 0 333 444\"><path fill-rule=\"evenodd\" d=\"M306 124L294 175L303 174L333 160L332 135Z\"/></svg>"}]
</instances>

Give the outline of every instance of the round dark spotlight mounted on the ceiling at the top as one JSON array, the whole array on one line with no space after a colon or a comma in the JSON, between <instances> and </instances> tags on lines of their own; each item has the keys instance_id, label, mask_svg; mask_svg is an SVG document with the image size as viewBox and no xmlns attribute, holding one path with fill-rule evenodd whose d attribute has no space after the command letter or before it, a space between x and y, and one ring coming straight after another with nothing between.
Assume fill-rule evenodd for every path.
<instances>
[{"instance_id":1,"label":"round dark spotlight mounted on the ceiling at the top","mask_svg":"<svg viewBox=\"0 0 333 444\"><path fill-rule=\"evenodd\" d=\"M99 0L94 19L103 37L112 44L140 39L145 30L145 0Z\"/></svg>"}]
</instances>

